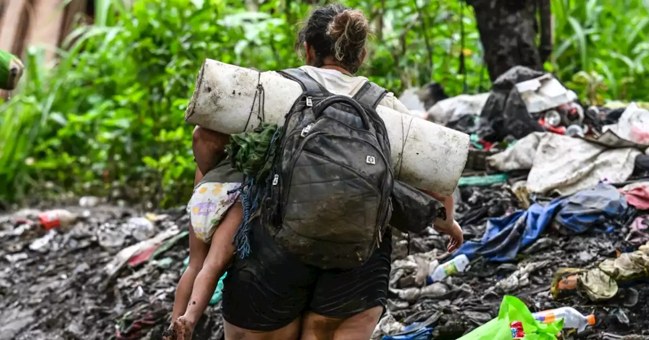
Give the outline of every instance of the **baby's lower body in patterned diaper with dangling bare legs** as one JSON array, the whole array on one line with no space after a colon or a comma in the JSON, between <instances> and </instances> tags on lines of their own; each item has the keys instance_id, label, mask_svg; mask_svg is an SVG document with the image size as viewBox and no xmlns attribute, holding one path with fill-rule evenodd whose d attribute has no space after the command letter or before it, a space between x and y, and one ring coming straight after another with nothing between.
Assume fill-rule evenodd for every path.
<instances>
[{"instance_id":1,"label":"baby's lower body in patterned diaper with dangling bare legs","mask_svg":"<svg viewBox=\"0 0 649 340\"><path fill-rule=\"evenodd\" d=\"M165 331L164 340L191 339L198 319L234 255L236 248L231 240L243 217L238 191L242 179L243 175L225 159L194 188L187 205L190 264L178 282L171 326Z\"/></svg>"}]
</instances>

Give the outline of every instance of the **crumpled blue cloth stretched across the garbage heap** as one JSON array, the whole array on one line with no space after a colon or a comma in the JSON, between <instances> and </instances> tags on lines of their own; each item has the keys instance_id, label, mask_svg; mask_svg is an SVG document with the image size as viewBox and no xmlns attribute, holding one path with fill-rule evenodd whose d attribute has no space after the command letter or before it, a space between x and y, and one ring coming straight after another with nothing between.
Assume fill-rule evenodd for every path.
<instances>
[{"instance_id":1,"label":"crumpled blue cloth stretched across the garbage heap","mask_svg":"<svg viewBox=\"0 0 649 340\"><path fill-rule=\"evenodd\" d=\"M563 232L580 234L591 229L611 231L628 224L635 214L617 188L599 183L567 198L556 198L548 205L535 203L528 210L487 221L482 241L468 241L453 257L484 256L487 260L513 260L520 249L533 244L546 227L556 221Z\"/></svg>"}]
</instances>

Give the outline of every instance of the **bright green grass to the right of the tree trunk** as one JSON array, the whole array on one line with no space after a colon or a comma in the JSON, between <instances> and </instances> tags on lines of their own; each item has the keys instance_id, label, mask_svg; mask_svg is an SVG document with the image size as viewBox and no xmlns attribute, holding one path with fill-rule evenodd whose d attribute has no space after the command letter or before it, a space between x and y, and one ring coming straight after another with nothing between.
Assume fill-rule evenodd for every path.
<instances>
[{"instance_id":1,"label":"bright green grass to the right of the tree trunk","mask_svg":"<svg viewBox=\"0 0 649 340\"><path fill-rule=\"evenodd\" d=\"M556 46L552 63L559 78L569 80L593 104L606 99L646 100L648 3L552 0Z\"/></svg>"}]
</instances>

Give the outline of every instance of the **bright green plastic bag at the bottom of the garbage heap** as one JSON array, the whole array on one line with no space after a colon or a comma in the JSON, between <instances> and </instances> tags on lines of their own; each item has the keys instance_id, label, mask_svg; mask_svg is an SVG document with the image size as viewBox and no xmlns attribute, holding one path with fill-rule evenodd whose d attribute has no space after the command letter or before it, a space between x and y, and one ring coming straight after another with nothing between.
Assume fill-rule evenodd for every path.
<instances>
[{"instance_id":1,"label":"bright green plastic bag at the bottom of the garbage heap","mask_svg":"<svg viewBox=\"0 0 649 340\"><path fill-rule=\"evenodd\" d=\"M511 327L514 321L523 324L526 340L556 340L557 333L563 329L563 319L551 324L536 321L532 312L517 297L505 295L500 303L498 317L474 329L459 340L511 340Z\"/></svg>"}]
</instances>

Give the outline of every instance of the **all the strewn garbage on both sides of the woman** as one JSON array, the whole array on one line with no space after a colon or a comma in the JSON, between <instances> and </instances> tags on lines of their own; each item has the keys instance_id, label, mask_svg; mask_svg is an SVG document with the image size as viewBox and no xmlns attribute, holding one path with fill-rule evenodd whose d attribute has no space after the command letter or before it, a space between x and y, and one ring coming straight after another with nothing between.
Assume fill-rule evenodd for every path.
<instances>
[{"instance_id":1,"label":"all the strewn garbage on both sides of the woman","mask_svg":"<svg viewBox=\"0 0 649 340\"><path fill-rule=\"evenodd\" d=\"M395 232L372 339L647 339L643 104L583 108L550 74L520 67L490 93L421 93L404 103L472 136L454 193L466 242L448 254L432 228ZM0 215L0 340L160 339L188 221L183 207L144 213L98 198ZM223 339L220 289L195 339Z\"/></svg>"}]
</instances>

